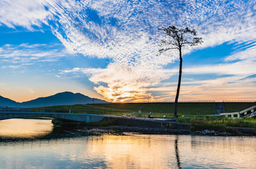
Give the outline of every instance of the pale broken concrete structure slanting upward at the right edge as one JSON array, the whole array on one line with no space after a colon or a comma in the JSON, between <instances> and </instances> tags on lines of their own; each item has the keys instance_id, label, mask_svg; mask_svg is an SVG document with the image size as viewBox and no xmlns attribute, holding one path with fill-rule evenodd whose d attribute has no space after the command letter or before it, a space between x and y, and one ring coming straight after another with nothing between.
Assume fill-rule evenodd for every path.
<instances>
[{"instance_id":1,"label":"pale broken concrete structure slanting upward at the right edge","mask_svg":"<svg viewBox=\"0 0 256 169\"><path fill-rule=\"evenodd\" d=\"M226 116L230 118L242 118L242 117L255 117L256 116L256 105L249 107L247 109L244 109L242 111L237 111L237 112L226 112L226 113L221 113L221 116Z\"/></svg>"}]
</instances>

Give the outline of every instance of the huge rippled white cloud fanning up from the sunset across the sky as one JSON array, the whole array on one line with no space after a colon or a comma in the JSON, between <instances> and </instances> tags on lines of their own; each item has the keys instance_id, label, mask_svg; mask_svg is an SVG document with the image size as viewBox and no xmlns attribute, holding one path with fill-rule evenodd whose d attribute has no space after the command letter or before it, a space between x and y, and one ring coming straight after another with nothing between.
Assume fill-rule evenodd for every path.
<instances>
[{"instance_id":1,"label":"huge rippled white cloud fanning up from the sunset across the sky","mask_svg":"<svg viewBox=\"0 0 256 169\"><path fill-rule=\"evenodd\" d=\"M177 51L156 56L157 39L164 37L157 30L159 27L176 25L195 28L204 43L194 50L225 42L243 44L256 41L256 5L253 0L17 0L4 1L0 6L3 6L0 22L7 27L23 26L33 30L33 26L41 27L44 23L49 25L52 33L70 53L109 58L110 64L106 69L75 68L61 73L85 73L90 81L98 85L94 88L98 93L117 101L136 97L150 99L152 96L146 87L168 79L170 73L177 73L177 70L164 69L177 59ZM15 12L12 12L14 9ZM254 49L253 46L247 47L251 48L225 59L227 62L243 61L185 68L183 72L241 76L253 74L255 60L250 59L254 57ZM183 54L192 50L187 46ZM4 57L22 57L17 53L5 54ZM37 53L34 58L50 55L51 52Z\"/></svg>"}]
</instances>

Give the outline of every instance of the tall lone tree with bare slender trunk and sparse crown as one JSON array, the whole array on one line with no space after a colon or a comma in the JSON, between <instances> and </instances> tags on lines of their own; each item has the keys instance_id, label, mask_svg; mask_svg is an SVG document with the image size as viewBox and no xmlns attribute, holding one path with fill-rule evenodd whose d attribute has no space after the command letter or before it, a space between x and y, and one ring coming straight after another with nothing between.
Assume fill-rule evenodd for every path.
<instances>
[{"instance_id":1,"label":"tall lone tree with bare slender trunk and sparse crown","mask_svg":"<svg viewBox=\"0 0 256 169\"><path fill-rule=\"evenodd\" d=\"M196 36L196 31L195 29L178 29L175 26L169 26L167 28L160 28L159 30L163 30L164 34L167 36L171 37L171 40L166 41L161 39L160 42L161 44L159 46L164 47L159 50L159 54L166 52L171 49L177 49L179 50L180 53L180 71L179 71L179 82L178 82L178 88L177 88L177 93L176 93L176 98L175 98L175 107L174 107L174 116L177 117L177 107L178 107L178 98L179 98L179 93L180 93L180 82L181 82L181 73L182 73L182 47L186 44L189 44L191 46L195 46L198 43L201 44L202 38L201 37L194 37L194 38L188 38L185 39L184 36L186 34Z\"/></svg>"}]
</instances>

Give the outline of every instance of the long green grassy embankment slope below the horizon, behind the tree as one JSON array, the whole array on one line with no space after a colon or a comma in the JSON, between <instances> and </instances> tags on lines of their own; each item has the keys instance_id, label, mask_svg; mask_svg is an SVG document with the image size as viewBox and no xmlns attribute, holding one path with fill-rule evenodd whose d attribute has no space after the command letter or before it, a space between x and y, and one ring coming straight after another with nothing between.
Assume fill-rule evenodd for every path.
<instances>
[{"instance_id":1,"label":"long green grassy embankment slope below the horizon, behind the tree","mask_svg":"<svg viewBox=\"0 0 256 169\"><path fill-rule=\"evenodd\" d=\"M255 105L254 102L225 102L225 112L240 111ZM149 111L154 117L173 118L174 103L104 103L104 104L76 104L72 106L50 106L42 107L45 112L69 112L69 109L75 113L99 114L99 115L117 115L126 116L135 112L134 116L138 116L141 109L141 116L147 117ZM41 109L36 111L42 111ZM181 102L178 103L179 118L205 118L205 115L214 114L214 102ZM184 117L182 117L184 116Z\"/></svg>"}]
</instances>

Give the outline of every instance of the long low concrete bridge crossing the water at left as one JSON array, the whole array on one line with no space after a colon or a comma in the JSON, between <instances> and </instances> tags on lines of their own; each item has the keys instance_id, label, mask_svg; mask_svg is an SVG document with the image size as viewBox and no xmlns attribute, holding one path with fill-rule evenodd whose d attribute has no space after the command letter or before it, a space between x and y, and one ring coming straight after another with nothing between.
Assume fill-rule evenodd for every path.
<instances>
[{"instance_id":1,"label":"long low concrete bridge crossing the water at left","mask_svg":"<svg viewBox=\"0 0 256 169\"><path fill-rule=\"evenodd\" d=\"M104 118L103 115L91 115L80 113L60 113L60 112L1 112L0 120L10 118L23 118L23 117L51 117L68 122L99 122Z\"/></svg>"}]
</instances>

